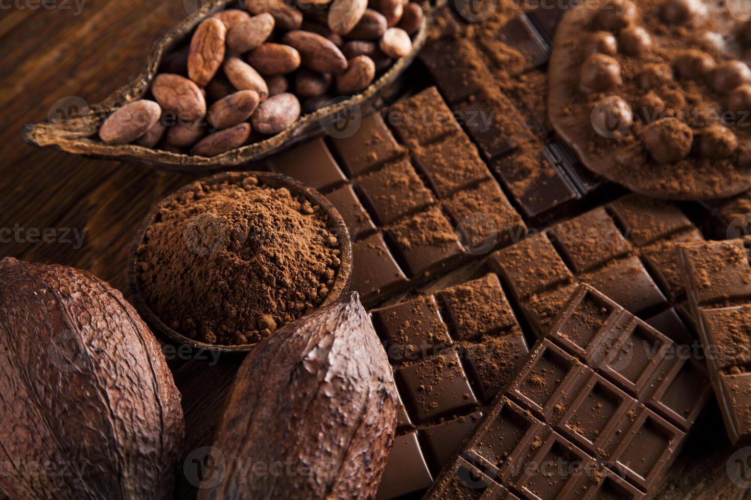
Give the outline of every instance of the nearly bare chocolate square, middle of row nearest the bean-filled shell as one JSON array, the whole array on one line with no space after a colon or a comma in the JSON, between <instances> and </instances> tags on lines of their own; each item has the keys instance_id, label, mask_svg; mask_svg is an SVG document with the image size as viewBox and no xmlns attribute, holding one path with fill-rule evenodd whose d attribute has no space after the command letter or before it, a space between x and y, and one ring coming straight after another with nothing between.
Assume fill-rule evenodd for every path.
<instances>
[{"instance_id":1,"label":"nearly bare chocolate square, middle of row nearest the bean-filled shell","mask_svg":"<svg viewBox=\"0 0 751 500\"><path fill-rule=\"evenodd\" d=\"M334 137L330 144L351 177L396 160L405 153L378 112L364 117L353 136Z\"/></svg>"}]
</instances>

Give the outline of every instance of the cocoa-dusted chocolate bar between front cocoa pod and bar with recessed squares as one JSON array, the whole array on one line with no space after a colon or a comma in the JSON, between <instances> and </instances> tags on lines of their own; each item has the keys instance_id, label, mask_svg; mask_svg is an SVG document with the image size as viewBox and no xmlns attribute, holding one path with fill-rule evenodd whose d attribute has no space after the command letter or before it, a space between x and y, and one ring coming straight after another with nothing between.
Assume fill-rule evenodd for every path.
<instances>
[{"instance_id":1,"label":"cocoa-dusted chocolate bar between front cocoa pod and bar with recessed squares","mask_svg":"<svg viewBox=\"0 0 751 500\"><path fill-rule=\"evenodd\" d=\"M526 340L495 274L372 310L371 318L403 402L378 498L416 495L520 366Z\"/></svg>"}]
</instances>

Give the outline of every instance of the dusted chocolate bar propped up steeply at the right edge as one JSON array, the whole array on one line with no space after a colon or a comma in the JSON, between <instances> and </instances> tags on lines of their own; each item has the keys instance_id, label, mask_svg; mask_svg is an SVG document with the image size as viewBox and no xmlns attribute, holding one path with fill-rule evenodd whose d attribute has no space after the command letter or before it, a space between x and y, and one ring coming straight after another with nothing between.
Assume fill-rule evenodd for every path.
<instances>
[{"instance_id":1,"label":"dusted chocolate bar propped up steeply at the right edge","mask_svg":"<svg viewBox=\"0 0 751 500\"><path fill-rule=\"evenodd\" d=\"M751 441L751 239L681 246L689 303L734 445Z\"/></svg>"}]
</instances>

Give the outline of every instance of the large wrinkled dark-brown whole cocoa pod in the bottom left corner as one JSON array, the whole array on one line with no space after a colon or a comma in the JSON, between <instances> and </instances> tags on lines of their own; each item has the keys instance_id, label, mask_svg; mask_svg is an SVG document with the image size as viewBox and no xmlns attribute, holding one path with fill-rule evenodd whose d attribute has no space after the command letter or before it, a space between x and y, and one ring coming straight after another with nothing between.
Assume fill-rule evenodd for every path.
<instances>
[{"instance_id":1,"label":"large wrinkled dark-brown whole cocoa pod in the bottom left corner","mask_svg":"<svg viewBox=\"0 0 751 500\"><path fill-rule=\"evenodd\" d=\"M0 488L13 499L173 498L180 394L134 308L62 265L6 258L0 281L0 463L17 464Z\"/></svg>"}]
</instances>

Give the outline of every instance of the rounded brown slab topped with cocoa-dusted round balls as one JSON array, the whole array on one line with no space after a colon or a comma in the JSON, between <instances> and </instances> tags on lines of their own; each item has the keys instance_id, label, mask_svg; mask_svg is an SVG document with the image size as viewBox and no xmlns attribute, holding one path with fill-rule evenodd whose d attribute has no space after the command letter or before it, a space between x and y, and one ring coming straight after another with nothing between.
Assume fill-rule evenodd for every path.
<instances>
[{"instance_id":1,"label":"rounded brown slab topped with cocoa-dusted round balls","mask_svg":"<svg viewBox=\"0 0 751 500\"><path fill-rule=\"evenodd\" d=\"M601 0L566 13L548 109L585 166L660 198L751 187L751 24L731 3Z\"/></svg>"}]
</instances>

